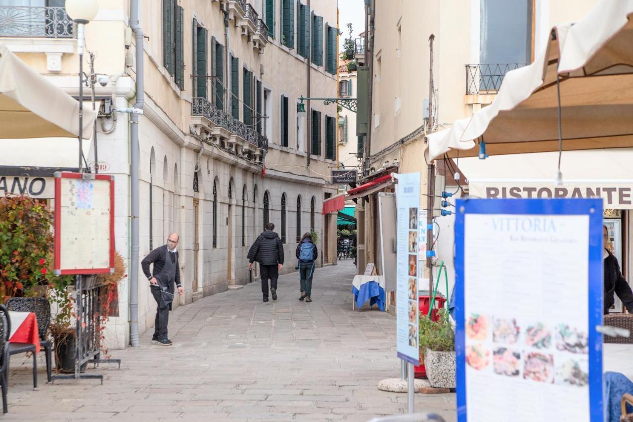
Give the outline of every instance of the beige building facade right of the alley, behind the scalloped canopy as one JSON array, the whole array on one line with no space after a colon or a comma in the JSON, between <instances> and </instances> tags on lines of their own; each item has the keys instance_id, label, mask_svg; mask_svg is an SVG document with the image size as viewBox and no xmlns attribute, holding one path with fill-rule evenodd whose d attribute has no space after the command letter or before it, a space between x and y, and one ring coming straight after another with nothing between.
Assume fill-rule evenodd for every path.
<instances>
[{"instance_id":1,"label":"beige building facade right of the alley, behind the scalloped canopy","mask_svg":"<svg viewBox=\"0 0 633 422\"><path fill-rule=\"evenodd\" d=\"M545 48L553 25L579 20L594 4L596 0L372 0L365 38L370 86L359 87L368 91L370 104L363 181L388 172L420 172L421 192L427 193L425 134L491 103L503 75L530 63ZM458 190L459 196L452 177L456 166L448 164L441 167L448 172L451 193ZM465 176L470 175L461 175L462 187ZM436 195L444 189L440 183ZM359 252L365 251L358 261L360 273L365 263L380 263L376 195L368 195L358 212L363 219L358 224L364 226L359 228ZM435 198L434 208L441 208L440 201ZM420 206L427 207L427 196L420 198ZM452 221L451 216L436 217L442 227L437 259L448 265L451 280L453 240L442 231L451 230Z\"/></svg>"}]
</instances>

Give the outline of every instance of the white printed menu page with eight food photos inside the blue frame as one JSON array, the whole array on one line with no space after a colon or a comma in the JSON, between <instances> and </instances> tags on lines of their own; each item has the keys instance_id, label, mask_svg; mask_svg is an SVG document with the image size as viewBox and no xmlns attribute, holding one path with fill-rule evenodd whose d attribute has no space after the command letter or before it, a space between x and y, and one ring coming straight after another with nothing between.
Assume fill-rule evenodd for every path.
<instances>
[{"instance_id":1,"label":"white printed menu page with eight food photos inside the blue frame","mask_svg":"<svg viewBox=\"0 0 633 422\"><path fill-rule=\"evenodd\" d=\"M589 421L589 217L466 214L464 233L468 422Z\"/></svg>"}]
</instances>

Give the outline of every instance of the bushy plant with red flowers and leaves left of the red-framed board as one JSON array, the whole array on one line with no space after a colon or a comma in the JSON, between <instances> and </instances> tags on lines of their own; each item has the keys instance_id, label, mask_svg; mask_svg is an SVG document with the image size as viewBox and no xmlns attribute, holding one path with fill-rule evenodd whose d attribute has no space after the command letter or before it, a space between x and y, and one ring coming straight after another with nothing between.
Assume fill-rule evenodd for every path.
<instances>
[{"instance_id":1,"label":"bushy plant with red flowers and leaves left of the red-framed board","mask_svg":"<svg viewBox=\"0 0 633 422\"><path fill-rule=\"evenodd\" d=\"M65 288L53 275L53 212L28 196L0 198L0 299L34 296L35 286Z\"/></svg>"}]
</instances>

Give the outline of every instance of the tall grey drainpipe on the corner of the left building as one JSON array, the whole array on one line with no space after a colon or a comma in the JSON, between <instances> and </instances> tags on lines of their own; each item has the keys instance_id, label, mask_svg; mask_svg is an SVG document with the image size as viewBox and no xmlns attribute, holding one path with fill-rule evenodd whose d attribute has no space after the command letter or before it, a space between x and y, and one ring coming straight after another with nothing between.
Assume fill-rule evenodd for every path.
<instances>
[{"instance_id":1,"label":"tall grey drainpipe on the corner of the left building","mask_svg":"<svg viewBox=\"0 0 633 422\"><path fill-rule=\"evenodd\" d=\"M139 24L139 0L130 1L130 29L136 40L136 103L145 103L143 75L143 30ZM130 125L130 208L132 226L130 254L130 344L139 347L139 115L132 113ZM150 205L151 206L151 205Z\"/></svg>"}]
</instances>

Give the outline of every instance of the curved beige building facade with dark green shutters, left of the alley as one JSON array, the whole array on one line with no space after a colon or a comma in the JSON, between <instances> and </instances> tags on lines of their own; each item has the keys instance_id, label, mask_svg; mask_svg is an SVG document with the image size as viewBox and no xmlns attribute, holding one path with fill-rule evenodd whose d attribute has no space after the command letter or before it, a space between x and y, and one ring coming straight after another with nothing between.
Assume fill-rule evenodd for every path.
<instances>
[{"instance_id":1,"label":"curved beige building facade with dark green shutters, left of the alley","mask_svg":"<svg viewBox=\"0 0 633 422\"><path fill-rule=\"evenodd\" d=\"M77 39L63 3L0 0L4 15L22 22L0 24L0 42L77 96ZM298 238L311 230L320 238L318 264L336 263L336 220L321 210L336 192L329 172L336 163L337 109L312 101L301 117L297 103L310 94L336 95L337 48L330 41L337 1L307 4L141 1L146 102L139 118L140 258L172 231L180 233L185 295L177 305L257 281L246 254L266 221L284 240L282 272L294 271ZM99 169L115 176L116 250L128 264L130 115L113 109L135 103L129 16L129 1L100 0L96 18L86 25L84 56L88 72L94 53ZM91 107L89 87L84 96ZM94 167L95 143L84 146ZM77 169L75 139L3 140L0 149L0 176L52 182L54 171ZM121 314L111 318L106 335L115 348L128 343L130 280L118 287ZM153 326L156 304L140 269L138 289L143 333Z\"/></svg>"}]
</instances>

